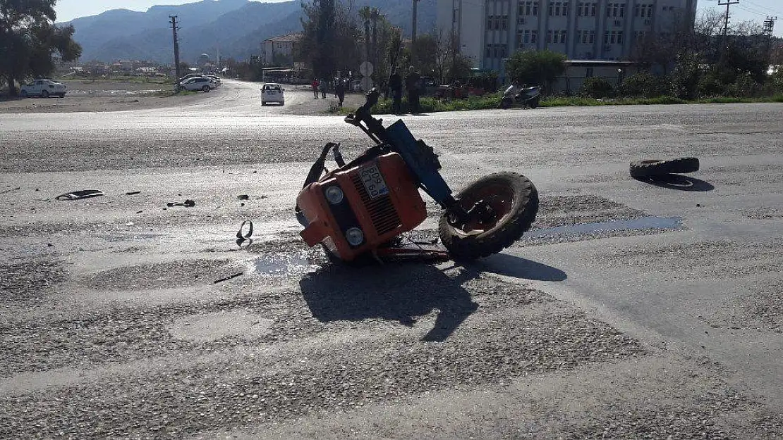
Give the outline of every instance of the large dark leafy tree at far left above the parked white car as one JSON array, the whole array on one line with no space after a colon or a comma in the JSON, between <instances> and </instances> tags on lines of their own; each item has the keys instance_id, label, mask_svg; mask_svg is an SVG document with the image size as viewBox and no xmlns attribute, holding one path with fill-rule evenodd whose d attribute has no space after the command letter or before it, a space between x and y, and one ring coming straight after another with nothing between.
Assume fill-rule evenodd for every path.
<instances>
[{"instance_id":1,"label":"large dark leafy tree at far left above the parked white car","mask_svg":"<svg viewBox=\"0 0 783 440\"><path fill-rule=\"evenodd\" d=\"M56 0L0 0L0 76L16 95L16 81L45 77L55 68L55 56L74 61L81 46L74 27L56 27Z\"/></svg>"}]
</instances>

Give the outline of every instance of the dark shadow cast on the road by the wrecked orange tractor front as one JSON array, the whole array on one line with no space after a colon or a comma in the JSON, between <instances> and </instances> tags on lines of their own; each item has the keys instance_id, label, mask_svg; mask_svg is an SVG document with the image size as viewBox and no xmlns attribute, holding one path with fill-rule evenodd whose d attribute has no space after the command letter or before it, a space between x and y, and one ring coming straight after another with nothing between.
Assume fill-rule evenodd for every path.
<instances>
[{"instance_id":1,"label":"dark shadow cast on the road by the wrecked orange tractor front","mask_svg":"<svg viewBox=\"0 0 783 440\"><path fill-rule=\"evenodd\" d=\"M425 263L327 265L306 275L299 286L312 316L321 322L383 319L413 326L417 317L438 309L435 325L421 340L442 342L478 309L464 284L482 272L531 280L565 279L565 273L554 267L514 256L496 257L461 266L456 275L444 273L451 267L442 270Z\"/></svg>"}]
</instances>

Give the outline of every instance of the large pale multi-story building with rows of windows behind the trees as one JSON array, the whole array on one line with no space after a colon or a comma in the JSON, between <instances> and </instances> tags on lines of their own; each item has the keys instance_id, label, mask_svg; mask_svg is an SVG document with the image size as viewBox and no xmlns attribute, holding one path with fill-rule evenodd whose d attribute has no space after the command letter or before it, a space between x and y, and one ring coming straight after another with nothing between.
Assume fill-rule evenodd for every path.
<instances>
[{"instance_id":1,"label":"large pale multi-story building with rows of windows behind the trees","mask_svg":"<svg viewBox=\"0 0 783 440\"><path fill-rule=\"evenodd\" d=\"M438 30L453 33L480 69L524 49L568 59L628 59L648 33L693 25L696 0L438 0ZM684 20L684 21L683 21Z\"/></svg>"}]
</instances>

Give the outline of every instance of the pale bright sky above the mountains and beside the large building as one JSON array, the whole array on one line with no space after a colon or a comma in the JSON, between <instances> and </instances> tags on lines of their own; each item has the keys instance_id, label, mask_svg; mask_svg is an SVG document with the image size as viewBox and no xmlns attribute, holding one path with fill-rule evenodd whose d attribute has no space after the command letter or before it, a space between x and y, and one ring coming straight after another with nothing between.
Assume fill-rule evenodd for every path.
<instances>
[{"instance_id":1,"label":"pale bright sky above the mountains and beside the large building","mask_svg":"<svg viewBox=\"0 0 783 440\"><path fill-rule=\"evenodd\" d=\"M274 2L283 0L265 0ZM146 11L152 5L179 5L192 3L193 0L58 0L57 21L67 21L80 16L92 16L109 9L132 9ZM717 0L698 0L699 9L713 8L725 11L725 6L718 6ZM731 5L731 20L751 20L761 23L767 16L778 16L775 23L775 34L783 37L783 0L739 0L738 5Z\"/></svg>"}]
</instances>

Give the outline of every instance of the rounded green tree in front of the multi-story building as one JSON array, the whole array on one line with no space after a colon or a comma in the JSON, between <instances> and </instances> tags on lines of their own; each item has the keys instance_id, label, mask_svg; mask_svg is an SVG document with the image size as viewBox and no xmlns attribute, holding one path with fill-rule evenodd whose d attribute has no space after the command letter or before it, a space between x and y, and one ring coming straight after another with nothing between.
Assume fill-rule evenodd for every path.
<instances>
[{"instance_id":1,"label":"rounded green tree in front of the multi-story building","mask_svg":"<svg viewBox=\"0 0 783 440\"><path fill-rule=\"evenodd\" d=\"M506 61L506 73L512 81L547 89L564 71L565 55L548 50L516 52Z\"/></svg>"}]
</instances>

